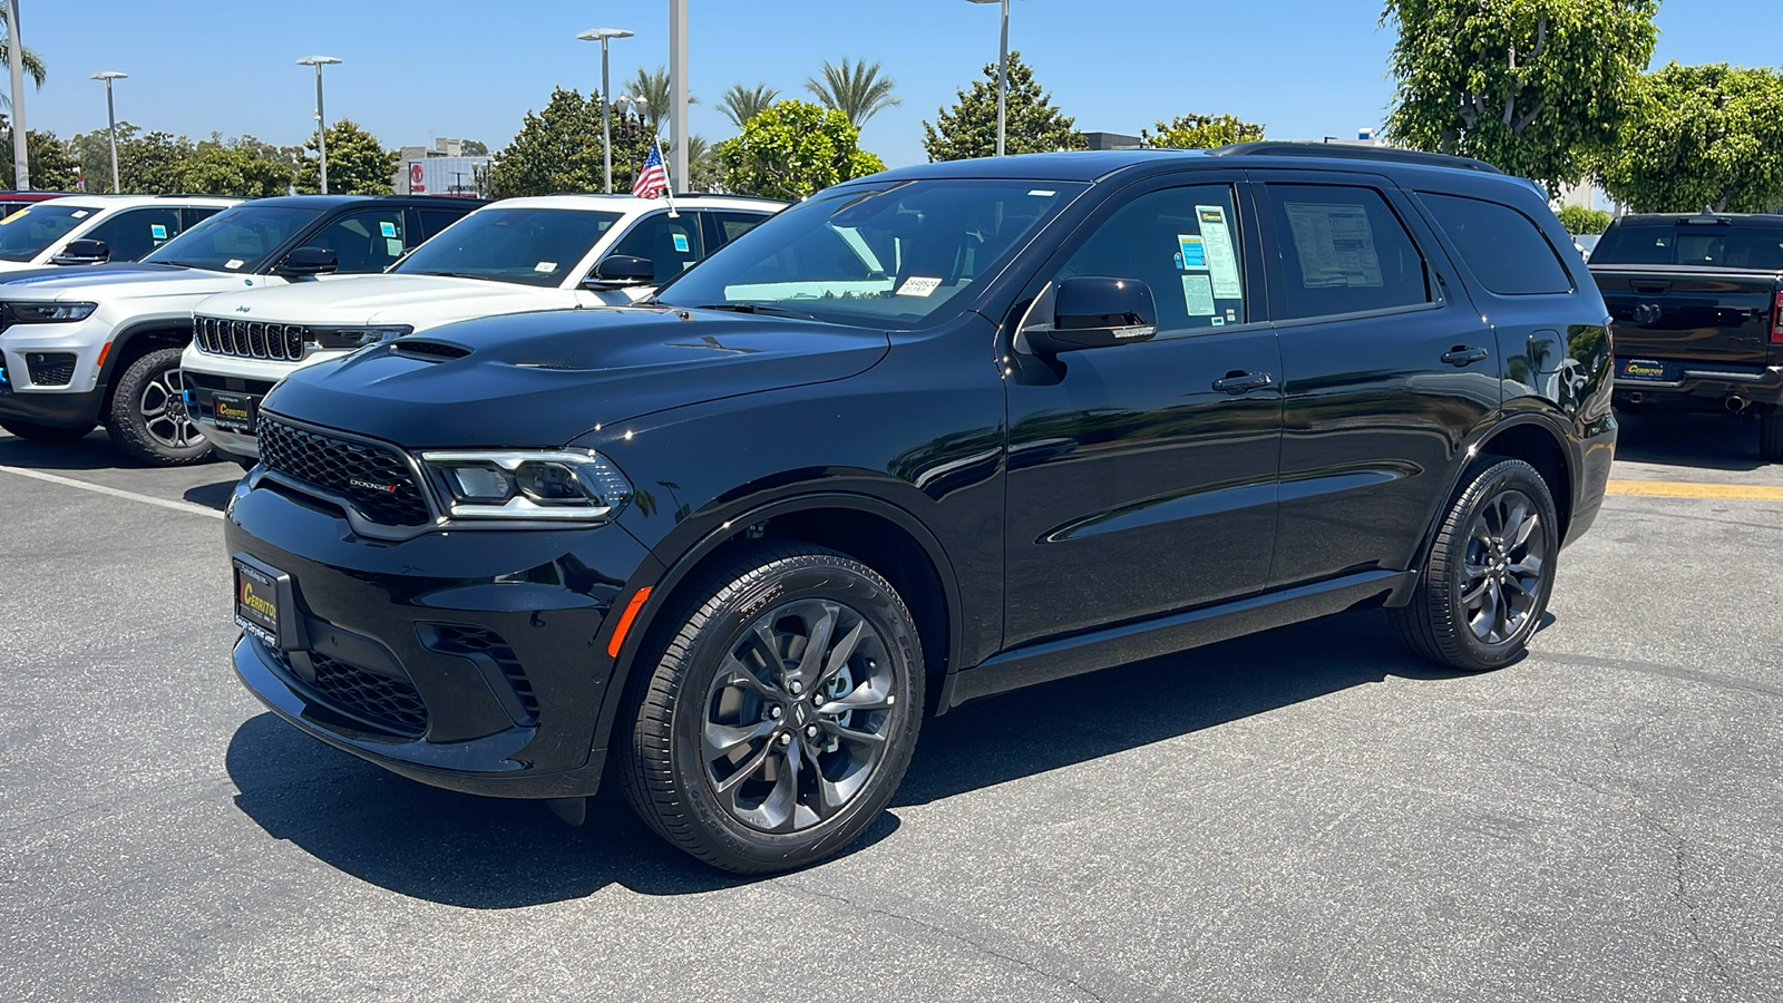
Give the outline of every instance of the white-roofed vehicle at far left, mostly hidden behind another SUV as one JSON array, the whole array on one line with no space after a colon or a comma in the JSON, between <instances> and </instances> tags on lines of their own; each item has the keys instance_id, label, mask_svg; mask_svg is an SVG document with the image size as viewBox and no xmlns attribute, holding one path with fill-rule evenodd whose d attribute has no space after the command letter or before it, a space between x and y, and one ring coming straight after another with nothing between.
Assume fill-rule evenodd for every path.
<instances>
[{"instance_id":1,"label":"white-roofed vehicle at far left, mostly hidden behind another SUV","mask_svg":"<svg viewBox=\"0 0 1783 1003\"><path fill-rule=\"evenodd\" d=\"M0 220L0 271L139 261L241 202L207 195L71 195Z\"/></svg>"}]
</instances>

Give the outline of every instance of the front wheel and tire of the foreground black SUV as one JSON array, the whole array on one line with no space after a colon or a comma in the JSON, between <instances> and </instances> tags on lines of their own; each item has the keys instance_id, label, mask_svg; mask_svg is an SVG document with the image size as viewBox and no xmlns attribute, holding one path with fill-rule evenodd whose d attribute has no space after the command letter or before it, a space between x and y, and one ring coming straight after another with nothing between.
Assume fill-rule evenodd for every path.
<instances>
[{"instance_id":1,"label":"front wheel and tire of the foreground black SUV","mask_svg":"<svg viewBox=\"0 0 1783 1003\"><path fill-rule=\"evenodd\" d=\"M802 544L752 546L688 596L638 662L626 800L670 844L738 875L842 851L892 800L922 726L904 600L872 568ZM827 644L804 659L826 618Z\"/></svg>"}]
</instances>

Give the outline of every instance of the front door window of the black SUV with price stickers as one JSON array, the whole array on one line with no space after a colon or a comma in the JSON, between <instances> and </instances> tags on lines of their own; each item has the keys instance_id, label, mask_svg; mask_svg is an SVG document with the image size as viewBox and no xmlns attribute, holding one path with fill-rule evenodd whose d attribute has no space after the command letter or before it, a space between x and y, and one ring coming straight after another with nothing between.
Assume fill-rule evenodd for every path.
<instances>
[{"instance_id":1,"label":"front door window of the black SUV with price stickers","mask_svg":"<svg viewBox=\"0 0 1783 1003\"><path fill-rule=\"evenodd\" d=\"M1152 289L1159 330L1245 323L1245 255L1232 186L1150 191L1097 225L1057 278L1107 275Z\"/></svg>"}]
</instances>

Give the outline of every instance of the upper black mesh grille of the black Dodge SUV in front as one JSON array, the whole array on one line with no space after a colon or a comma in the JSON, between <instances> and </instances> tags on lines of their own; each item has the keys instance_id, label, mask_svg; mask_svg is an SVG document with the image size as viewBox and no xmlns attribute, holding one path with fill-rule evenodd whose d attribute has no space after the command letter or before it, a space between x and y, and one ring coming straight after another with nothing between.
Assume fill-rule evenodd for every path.
<instances>
[{"instance_id":1,"label":"upper black mesh grille of the black Dodge SUV in front","mask_svg":"<svg viewBox=\"0 0 1783 1003\"><path fill-rule=\"evenodd\" d=\"M423 526L431 514L415 475L394 448L308 432L260 414L266 469L342 498L387 526Z\"/></svg>"}]
</instances>

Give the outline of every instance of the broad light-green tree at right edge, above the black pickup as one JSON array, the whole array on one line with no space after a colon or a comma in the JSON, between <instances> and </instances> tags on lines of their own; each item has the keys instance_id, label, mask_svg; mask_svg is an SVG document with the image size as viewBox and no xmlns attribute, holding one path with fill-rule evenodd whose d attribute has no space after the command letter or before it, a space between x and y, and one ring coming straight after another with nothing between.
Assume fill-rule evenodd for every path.
<instances>
[{"instance_id":1,"label":"broad light-green tree at right edge, above the black pickup","mask_svg":"<svg viewBox=\"0 0 1783 1003\"><path fill-rule=\"evenodd\" d=\"M1637 212L1772 212L1783 205L1783 73L1665 64L1598 170Z\"/></svg>"}]
</instances>

